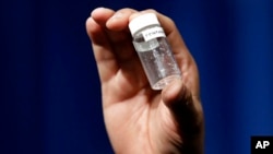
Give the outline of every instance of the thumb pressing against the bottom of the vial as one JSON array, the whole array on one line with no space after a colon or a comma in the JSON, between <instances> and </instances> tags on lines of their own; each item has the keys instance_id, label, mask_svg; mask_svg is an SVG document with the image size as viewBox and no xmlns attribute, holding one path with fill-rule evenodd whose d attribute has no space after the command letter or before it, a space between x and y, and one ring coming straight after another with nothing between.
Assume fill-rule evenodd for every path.
<instances>
[{"instance_id":1,"label":"thumb pressing against the bottom of the vial","mask_svg":"<svg viewBox=\"0 0 273 154\"><path fill-rule=\"evenodd\" d=\"M183 140L203 135L203 112L200 100L180 80L171 82L162 92L164 104L174 116Z\"/></svg>"}]
</instances>

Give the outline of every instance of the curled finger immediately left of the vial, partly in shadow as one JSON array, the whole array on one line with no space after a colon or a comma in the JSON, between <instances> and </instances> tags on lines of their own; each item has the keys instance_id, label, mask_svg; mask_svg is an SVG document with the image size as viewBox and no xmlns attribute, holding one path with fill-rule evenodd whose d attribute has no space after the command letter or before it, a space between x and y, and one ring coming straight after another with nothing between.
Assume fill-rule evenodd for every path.
<instances>
[{"instance_id":1,"label":"curled finger immediately left of the vial, partly in shadow","mask_svg":"<svg viewBox=\"0 0 273 154\"><path fill-rule=\"evenodd\" d=\"M118 10L106 23L107 36L110 40L112 52L123 76L123 86L127 90L138 91L147 85L147 80L140 59L132 46L132 36L129 32L129 17L136 11L133 9ZM128 92L127 92L128 93Z\"/></svg>"}]
</instances>

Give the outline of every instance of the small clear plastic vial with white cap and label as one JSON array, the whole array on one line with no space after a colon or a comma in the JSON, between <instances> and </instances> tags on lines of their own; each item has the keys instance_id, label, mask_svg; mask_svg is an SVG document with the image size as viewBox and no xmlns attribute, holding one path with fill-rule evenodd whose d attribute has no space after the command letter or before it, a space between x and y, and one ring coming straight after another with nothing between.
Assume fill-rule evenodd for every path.
<instances>
[{"instance_id":1,"label":"small clear plastic vial with white cap and label","mask_svg":"<svg viewBox=\"0 0 273 154\"><path fill-rule=\"evenodd\" d=\"M136 16L129 23L129 28L153 90L162 90L173 80L181 79L181 71L154 13Z\"/></svg>"}]
</instances>

